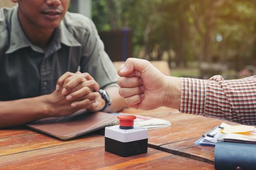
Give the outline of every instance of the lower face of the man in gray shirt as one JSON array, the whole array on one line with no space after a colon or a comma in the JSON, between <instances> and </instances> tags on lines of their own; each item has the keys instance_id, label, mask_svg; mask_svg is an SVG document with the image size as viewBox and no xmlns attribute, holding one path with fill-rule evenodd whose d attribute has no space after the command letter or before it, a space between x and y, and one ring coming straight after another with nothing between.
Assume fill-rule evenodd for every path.
<instances>
[{"instance_id":1,"label":"lower face of the man in gray shirt","mask_svg":"<svg viewBox=\"0 0 256 170\"><path fill-rule=\"evenodd\" d=\"M70 0L18 0L19 19L42 29L55 29L65 16Z\"/></svg>"}]
</instances>

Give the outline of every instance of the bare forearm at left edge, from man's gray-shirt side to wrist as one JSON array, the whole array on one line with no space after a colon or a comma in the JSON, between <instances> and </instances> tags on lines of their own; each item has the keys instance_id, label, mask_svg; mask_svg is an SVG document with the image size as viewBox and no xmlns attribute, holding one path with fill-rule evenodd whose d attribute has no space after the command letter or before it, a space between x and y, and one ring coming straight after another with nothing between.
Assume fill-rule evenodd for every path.
<instances>
[{"instance_id":1,"label":"bare forearm at left edge, from man's gray-shirt side to wrist","mask_svg":"<svg viewBox=\"0 0 256 170\"><path fill-rule=\"evenodd\" d=\"M47 95L0 102L0 128L27 123L49 116Z\"/></svg>"}]
</instances>

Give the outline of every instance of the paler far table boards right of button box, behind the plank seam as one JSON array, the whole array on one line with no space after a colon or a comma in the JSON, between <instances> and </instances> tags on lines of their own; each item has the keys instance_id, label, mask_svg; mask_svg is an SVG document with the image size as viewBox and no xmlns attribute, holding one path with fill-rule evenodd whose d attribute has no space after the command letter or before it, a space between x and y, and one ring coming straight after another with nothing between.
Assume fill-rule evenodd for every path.
<instances>
[{"instance_id":1,"label":"paler far table boards right of button box, behind the plank seam","mask_svg":"<svg viewBox=\"0 0 256 170\"><path fill-rule=\"evenodd\" d=\"M153 129L149 131L149 147L156 148L160 145L199 138L202 131L209 131L220 125L222 120L206 118L202 116L178 113L175 109L161 107L152 111L141 111L136 109L125 109L125 113L143 115L165 119L171 122L170 127Z\"/></svg>"}]
</instances>

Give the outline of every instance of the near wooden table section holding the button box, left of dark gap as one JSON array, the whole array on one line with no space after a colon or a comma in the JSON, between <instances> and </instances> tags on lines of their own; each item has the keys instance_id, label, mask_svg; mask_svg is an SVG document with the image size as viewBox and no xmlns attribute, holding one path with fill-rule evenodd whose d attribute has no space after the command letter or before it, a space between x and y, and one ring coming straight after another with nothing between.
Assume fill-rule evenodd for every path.
<instances>
[{"instance_id":1,"label":"near wooden table section holding the button box, left of dark gap","mask_svg":"<svg viewBox=\"0 0 256 170\"><path fill-rule=\"evenodd\" d=\"M0 170L170 169L213 170L212 164L154 148L130 157L104 151L104 136L91 133L62 141L26 127L0 130Z\"/></svg>"}]
</instances>

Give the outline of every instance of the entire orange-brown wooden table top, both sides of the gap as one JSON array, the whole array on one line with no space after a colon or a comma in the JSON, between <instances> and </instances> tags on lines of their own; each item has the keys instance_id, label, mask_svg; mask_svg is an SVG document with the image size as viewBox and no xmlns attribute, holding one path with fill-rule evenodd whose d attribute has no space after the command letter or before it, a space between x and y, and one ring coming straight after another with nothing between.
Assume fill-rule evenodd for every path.
<instances>
[{"instance_id":1,"label":"entire orange-brown wooden table top, both sides of the gap","mask_svg":"<svg viewBox=\"0 0 256 170\"><path fill-rule=\"evenodd\" d=\"M168 108L123 112L167 119L172 125L150 130L148 153L130 157L105 152L104 136L98 133L62 141L23 126L0 130L0 170L214 170L209 164L213 163L214 147L196 146L194 141L202 130L219 125L220 120L179 114Z\"/></svg>"}]
</instances>

